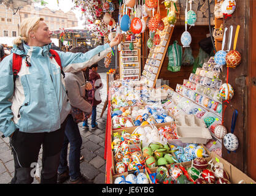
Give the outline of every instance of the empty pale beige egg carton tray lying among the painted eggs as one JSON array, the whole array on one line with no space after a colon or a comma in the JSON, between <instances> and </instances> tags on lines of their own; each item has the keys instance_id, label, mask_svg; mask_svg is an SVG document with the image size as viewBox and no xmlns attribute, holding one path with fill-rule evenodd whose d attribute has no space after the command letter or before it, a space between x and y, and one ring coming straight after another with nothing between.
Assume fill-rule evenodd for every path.
<instances>
[{"instance_id":1,"label":"empty pale beige egg carton tray lying among the painted eggs","mask_svg":"<svg viewBox=\"0 0 256 196\"><path fill-rule=\"evenodd\" d=\"M212 138L211 133L205 127L202 119L195 115L185 115L183 118L176 118L177 138L182 143L206 144Z\"/></svg>"}]
</instances>

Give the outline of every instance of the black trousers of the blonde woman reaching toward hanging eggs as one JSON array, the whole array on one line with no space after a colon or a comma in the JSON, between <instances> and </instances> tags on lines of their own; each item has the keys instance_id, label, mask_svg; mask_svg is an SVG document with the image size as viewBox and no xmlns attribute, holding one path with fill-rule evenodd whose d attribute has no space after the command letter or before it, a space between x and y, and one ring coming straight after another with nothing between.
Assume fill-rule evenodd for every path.
<instances>
[{"instance_id":1,"label":"black trousers of the blonde woman reaching toward hanging eggs","mask_svg":"<svg viewBox=\"0 0 256 196\"><path fill-rule=\"evenodd\" d=\"M31 184L39 151L42 145L41 184L55 184L60 162L60 151L63 146L66 120L60 129L54 132L25 133L16 130L10 138L10 146L14 154L15 173L11 184Z\"/></svg>"}]
</instances>

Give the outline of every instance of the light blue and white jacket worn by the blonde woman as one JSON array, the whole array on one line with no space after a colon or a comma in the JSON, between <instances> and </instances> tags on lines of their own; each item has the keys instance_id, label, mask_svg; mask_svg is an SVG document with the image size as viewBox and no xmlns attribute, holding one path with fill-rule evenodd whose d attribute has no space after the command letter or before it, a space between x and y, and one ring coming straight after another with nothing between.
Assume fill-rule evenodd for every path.
<instances>
[{"instance_id":1,"label":"light blue and white jacket worn by the blonde woman","mask_svg":"<svg viewBox=\"0 0 256 196\"><path fill-rule=\"evenodd\" d=\"M28 55L31 67L23 57L15 80L12 72L12 54L0 63L0 131L9 137L16 129L21 132L52 132L60 129L71 111L60 66L50 58L50 44L24 50L14 46L12 53ZM77 72L90 67L111 51L108 43L87 53L57 51L64 72ZM15 86L15 89L14 89Z\"/></svg>"}]
</instances>

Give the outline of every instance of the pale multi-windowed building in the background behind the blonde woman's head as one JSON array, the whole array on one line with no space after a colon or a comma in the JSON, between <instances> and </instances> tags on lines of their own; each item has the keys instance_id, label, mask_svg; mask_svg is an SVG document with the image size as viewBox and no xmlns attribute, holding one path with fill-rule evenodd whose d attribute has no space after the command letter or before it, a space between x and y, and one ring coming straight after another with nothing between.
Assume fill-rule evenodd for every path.
<instances>
[{"instance_id":1,"label":"pale multi-windowed building in the background behind the blonde woman's head","mask_svg":"<svg viewBox=\"0 0 256 196\"><path fill-rule=\"evenodd\" d=\"M64 13L62 10L50 10L47 7L41 9L35 7L34 3L8 6L2 2L0 4L0 43L12 45L12 40L19 35L21 21L34 16L44 18L51 30L78 26L76 14L71 10Z\"/></svg>"}]
</instances>

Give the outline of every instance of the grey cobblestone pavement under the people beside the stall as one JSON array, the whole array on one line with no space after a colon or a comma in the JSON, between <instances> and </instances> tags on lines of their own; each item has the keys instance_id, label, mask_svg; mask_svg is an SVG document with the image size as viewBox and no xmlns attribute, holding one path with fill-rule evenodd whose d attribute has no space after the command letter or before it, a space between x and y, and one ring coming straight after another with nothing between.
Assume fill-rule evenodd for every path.
<instances>
[{"instance_id":1,"label":"grey cobblestone pavement under the people beside the stall","mask_svg":"<svg viewBox=\"0 0 256 196\"><path fill-rule=\"evenodd\" d=\"M91 130L91 119L88 119L90 129L85 131L82 129L82 123L79 123L79 130L82 136L81 154L84 159L80 163L80 170L83 175L91 179L95 184L105 183L106 160L104 160L104 145L105 145L105 130L107 122L107 108L102 118L100 118L103 110L104 102L107 99L106 89L106 73L99 73L103 80L104 87L101 89L101 104L97 107L96 122L98 129ZM69 151L68 151L69 154ZM36 170L33 184L40 182L40 174L42 168L42 148L38 159L39 167ZM14 156L11 153L9 146L9 137L0 137L0 184L10 183L14 176ZM67 181L65 182L67 183Z\"/></svg>"}]
</instances>

